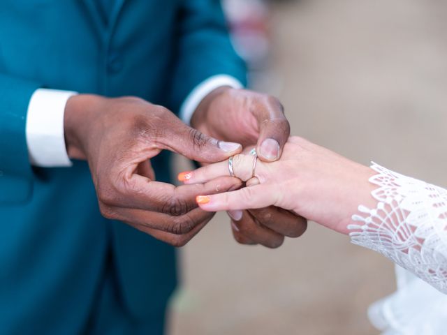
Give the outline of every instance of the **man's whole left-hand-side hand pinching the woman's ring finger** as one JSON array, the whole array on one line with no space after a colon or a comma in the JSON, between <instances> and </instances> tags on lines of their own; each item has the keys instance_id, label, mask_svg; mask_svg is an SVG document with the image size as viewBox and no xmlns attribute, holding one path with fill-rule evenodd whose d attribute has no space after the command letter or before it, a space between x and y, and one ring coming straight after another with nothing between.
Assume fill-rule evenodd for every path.
<instances>
[{"instance_id":1,"label":"man's whole left-hand-side hand pinching the woman's ring finger","mask_svg":"<svg viewBox=\"0 0 447 335\"><path fill-rule=\"evenodd\" d=\"M196 195L241 185L231 177L179 187L154 181L149 159L162 149L211 163L242 148L203 135L140 98L73 96L64 127L69 156L89 163L103 216L175 246L186 244L213 216L196 206Z\"/></svg>"}]
</instances>

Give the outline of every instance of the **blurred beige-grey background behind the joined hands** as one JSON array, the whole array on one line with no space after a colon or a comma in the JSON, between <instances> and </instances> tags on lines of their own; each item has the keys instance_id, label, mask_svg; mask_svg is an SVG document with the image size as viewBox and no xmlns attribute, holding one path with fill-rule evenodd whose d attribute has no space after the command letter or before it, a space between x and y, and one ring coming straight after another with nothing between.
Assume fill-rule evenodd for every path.
<instances>
[{"instance_id":1,"label":"blurred beige-grey background behind the joined hands","mask_svg":"<svg viewBox=\"0 0 447 335\"><path fill-rule=\"evenodd\" d=\"M225 6L252 87L281 98L294 135L447 186L447 1ZM395 289L390 261L315 223L268 250L218 214L181 267L172 335L378 334L367 306Z\"/></svg>"}]
</instances>

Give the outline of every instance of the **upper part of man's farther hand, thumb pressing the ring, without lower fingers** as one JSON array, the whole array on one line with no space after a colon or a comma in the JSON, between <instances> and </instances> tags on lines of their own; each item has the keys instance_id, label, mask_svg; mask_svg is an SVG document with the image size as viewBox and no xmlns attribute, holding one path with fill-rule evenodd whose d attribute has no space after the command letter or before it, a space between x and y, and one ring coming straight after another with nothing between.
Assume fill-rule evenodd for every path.
<instances>
[{"instance_id":1,"label":"upper part of man's farther hand, thumb pressing the ring, without lower fingers","mask_svg":"<svg viewBox=\"0 0 447 335\"><path fill-rule=\"evenodd\" d=\"M277 161L291 133L277 98L246 89L220 87L198 106L191 125L242 147L256 145L262 161Z\"/></svg>"}]
</instances>

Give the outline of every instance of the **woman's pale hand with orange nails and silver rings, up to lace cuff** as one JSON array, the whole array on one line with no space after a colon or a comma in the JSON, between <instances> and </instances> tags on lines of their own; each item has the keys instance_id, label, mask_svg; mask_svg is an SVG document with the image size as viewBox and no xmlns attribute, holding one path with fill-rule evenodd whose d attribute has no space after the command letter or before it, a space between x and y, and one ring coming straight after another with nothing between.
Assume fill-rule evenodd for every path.
<instances>
[{"instance_id":1,"label":"woman's pale hand with orange nails and silver rings, up to lace cuff","mask_svg":"<svg viewBox=\"0 0 447 335\"><path fill-rule=\"evenodd\" d=\"M235 177L248 181L238 191L202 195L197 202L205 211L256 209L274 205L338 232L347 233L359 204L375 207L369 177L374 170L300 137L290 137L279 161L256 163L254 156L233 158ZM228 161L214 163L190 173L188 184L227 176Z\"/></svg>"}]
</instances>

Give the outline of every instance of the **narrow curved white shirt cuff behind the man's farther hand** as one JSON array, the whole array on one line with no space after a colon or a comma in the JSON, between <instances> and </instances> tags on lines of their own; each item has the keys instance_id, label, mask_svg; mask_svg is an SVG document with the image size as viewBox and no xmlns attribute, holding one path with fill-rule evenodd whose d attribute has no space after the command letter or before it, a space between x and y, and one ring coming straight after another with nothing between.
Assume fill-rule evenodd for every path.
<instances>
[{"instance_id":1,"label":"narrow curved white shirt cuff behind the man's farther hand","mask_svg":"<svg viewBox=\"0 0 447 335\"><path fill-rule=\"evenodd\" d=\"M180 119L182 119L185 124L191 124L191 118L205 96L214 91L214 89L223 86L230 86L233 87L233 89L242 89L243 87L239 80L230 75L214 75L208 78L193 89L189 96L186 97L182 107L180 107Z\"/></svg>"}]
</instances>

